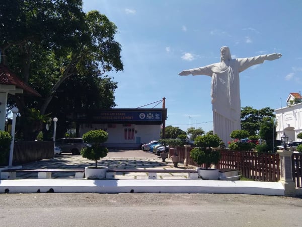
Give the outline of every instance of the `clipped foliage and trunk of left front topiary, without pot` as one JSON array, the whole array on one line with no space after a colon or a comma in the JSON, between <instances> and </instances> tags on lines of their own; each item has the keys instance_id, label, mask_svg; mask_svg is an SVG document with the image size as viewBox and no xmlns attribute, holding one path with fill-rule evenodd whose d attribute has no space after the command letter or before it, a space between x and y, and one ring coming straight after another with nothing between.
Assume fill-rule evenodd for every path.
<instances>
[{"instance_id":1,"label":"clipped foliage and trunk of left front topiary, without pot","mask_svg":"<svg viewBox=\"0 0 302 227\"><path fill-rule=\"evenodd\" d=\"M96 161L95 168L97 168L98 160L108 154L108 149L103 146L103 143L108 140L108 133L103 130L91 130L83 135L83 140L87 146L82 148L81 154L89 160Z\"/></svg>"}]
</instances>

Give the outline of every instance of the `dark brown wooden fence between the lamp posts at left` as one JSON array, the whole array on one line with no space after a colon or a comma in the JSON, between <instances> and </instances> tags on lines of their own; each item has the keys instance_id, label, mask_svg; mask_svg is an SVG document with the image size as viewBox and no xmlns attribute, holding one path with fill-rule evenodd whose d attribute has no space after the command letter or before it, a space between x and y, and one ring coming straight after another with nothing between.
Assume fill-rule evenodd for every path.
<instances>
[{"instance_id":1,"label":"dark brown wooden fence between the lamp posts at left","mask_svg":"<svg viewBox=\"0 0 302 227\"><path fill-rule=\"evenodd\" d=\"M53 141L19 141L14 144L13 165L52 158Z\"/></svg>"}]
</instances>

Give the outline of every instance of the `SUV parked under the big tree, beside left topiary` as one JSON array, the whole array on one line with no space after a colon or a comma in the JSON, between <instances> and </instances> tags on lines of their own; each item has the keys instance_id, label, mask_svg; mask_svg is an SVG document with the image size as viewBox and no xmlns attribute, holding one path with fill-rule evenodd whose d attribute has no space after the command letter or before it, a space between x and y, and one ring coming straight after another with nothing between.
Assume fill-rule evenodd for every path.
<instances>
[{"instance_id":1,"label":"SUV parked under the big tree, beside left topiary","mask_svg":"<svg viewBox=\"0 0 302 227\"><path fill-rule=\"evenodd\" d=\"M83 138L61 138L55 141L55 145L61 148L62 153L79 155L82 148L86 147Z\"/></svg>"}]
</instances>

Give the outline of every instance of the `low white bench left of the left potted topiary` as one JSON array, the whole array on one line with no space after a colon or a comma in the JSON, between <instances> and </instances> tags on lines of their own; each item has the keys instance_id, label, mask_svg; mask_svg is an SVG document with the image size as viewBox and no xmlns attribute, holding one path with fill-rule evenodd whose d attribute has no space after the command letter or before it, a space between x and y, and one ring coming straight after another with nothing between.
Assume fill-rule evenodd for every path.
<instances>
[{"instance_id":1,"label":"low white bench left of the left potted topiary","mask_svg":"<svg viewBox=\"0 0 302 227\"><path fill-rule=\"evenodd\" d=\"M11 168L1 171L1 179L16 179L17 173L38 173L38 179L50 179L52 173L75 173L74 178L84 178L83 168Z\"/></svg>"}]
</instances>

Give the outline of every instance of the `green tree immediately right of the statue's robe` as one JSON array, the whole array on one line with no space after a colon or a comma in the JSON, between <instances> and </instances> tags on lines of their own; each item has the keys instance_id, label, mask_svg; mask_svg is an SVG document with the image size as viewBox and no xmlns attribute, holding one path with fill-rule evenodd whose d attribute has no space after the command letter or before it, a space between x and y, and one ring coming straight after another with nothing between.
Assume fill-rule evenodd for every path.
<instances>
[{"instance_id":1,"label":"green tree immediately right of the statue's robe","mask_svg":"<svg viewBox=\"0 0 302 227\"><path fill-rule=\"evenodd\" d=\"M241 129L249 132L249 135L257 135L260 131L262 120L265 117L274 118L274 109L265 107L254 109L251 106L242 107L241 109Z\"/></svg>"}]
</instances>

